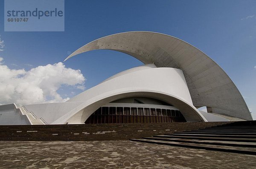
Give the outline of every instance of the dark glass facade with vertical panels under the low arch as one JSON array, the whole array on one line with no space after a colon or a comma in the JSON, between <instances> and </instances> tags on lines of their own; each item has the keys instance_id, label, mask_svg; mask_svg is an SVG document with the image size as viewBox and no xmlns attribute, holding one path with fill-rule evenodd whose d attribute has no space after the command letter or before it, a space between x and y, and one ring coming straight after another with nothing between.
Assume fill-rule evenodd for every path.
<instances>
[{"instance_id":1,"label":"dark glass facade with vertical panels under the low arch","mask_svg":"<svg viewBox=\"0 0 256 169\"><path fill-rule=\"evenodd\" d=\"M179 110L143 107L100 107L84 122L105 123L171 123L186 122Z\"/></svg>"}]
</instances>

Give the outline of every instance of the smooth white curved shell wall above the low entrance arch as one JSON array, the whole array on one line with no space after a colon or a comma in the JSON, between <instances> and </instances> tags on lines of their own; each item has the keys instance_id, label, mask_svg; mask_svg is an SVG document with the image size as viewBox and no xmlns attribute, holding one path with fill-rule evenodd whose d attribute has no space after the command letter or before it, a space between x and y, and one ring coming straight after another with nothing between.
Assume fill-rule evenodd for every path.
<instances>
[{"instance_id":1,"label":"smooth white curved shell wall above the low entrance arch","mask_svg":"<svg viewBox=\"0 0 256 169\"><path fill-rule=\"evenodd\" d=\"M172 78L169 78L172 77ZM111 93L118 89L134 90L143 88L144 90L162 91L177 96L180 99L192 104L189 90L182 70L175 68L151 68L145 70L133 71L131 73L117 76L102 82L89 90L74 96L67 102L87 101L94 96L100 96L102 93Z\"/></svg>"}]
</instances>

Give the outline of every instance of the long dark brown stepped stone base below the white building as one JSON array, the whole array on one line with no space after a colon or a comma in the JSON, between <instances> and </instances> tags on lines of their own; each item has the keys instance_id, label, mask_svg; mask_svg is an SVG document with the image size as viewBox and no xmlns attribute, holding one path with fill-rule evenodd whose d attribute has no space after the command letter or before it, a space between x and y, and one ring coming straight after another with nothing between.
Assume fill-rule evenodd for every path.
<instances>
[{"instance_id":1,"label":"long dark brown stepped stone base below the white building","mask_svg":"<svg viewBox=\"0 0 256 169\"><path fill-rule=\"evenodd\" d=\"M0 126L1 141L105 141L165 135L230 122L61 124ZM165 135L165 137L168 135ZM156 138L156 137L154 137Z\"/></svg>"}]
</instances>

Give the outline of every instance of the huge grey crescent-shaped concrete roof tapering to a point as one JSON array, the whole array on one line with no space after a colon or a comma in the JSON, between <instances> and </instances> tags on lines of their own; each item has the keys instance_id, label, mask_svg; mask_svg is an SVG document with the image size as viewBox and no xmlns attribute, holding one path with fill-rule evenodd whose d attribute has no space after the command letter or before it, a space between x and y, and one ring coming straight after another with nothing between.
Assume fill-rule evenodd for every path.
<instances>
[{"instance_id":1,"label":"huge grey crescent-shaped concrete roof tapering to a point","mask_svg":"<svg viewBox=\"0 0 256 169\"><path fill-rule=\"evenodd\" d=\"M158 68L181 69L195 107L208 106L215 113L252 120L241 93L227 73L209 56L181 39L148 31L124 32L96 39L67 59L97 49L129 54Z\"/></svg>"}]
</instances>

